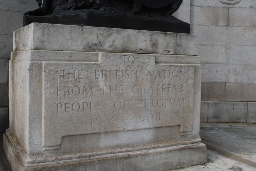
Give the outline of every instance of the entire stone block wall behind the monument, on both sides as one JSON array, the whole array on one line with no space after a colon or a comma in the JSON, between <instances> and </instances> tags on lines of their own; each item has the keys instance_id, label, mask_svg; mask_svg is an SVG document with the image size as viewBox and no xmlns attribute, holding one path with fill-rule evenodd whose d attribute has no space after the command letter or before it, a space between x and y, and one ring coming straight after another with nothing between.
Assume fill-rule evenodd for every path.
<instances>
[{"instance_id":1,"label":"entire stone block wall behind the monument, on both sides","mask_svg":"<svg viewBox=\"0 0 256 171\"><path fill-rule=\"evenodd\" d=\"M8 60L12 32L36 0L0 0L0 133L8 128ZM256 1L183 0L173 16L198 34L201 122L256 123Z\"/></svg>"}]
</instances>

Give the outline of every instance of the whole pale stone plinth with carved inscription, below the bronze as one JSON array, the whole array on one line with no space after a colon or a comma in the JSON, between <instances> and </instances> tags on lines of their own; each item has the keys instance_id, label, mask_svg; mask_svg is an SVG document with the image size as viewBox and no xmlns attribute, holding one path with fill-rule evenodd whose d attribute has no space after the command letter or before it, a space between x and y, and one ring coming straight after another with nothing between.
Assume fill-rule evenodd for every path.
<instances>
[{"instance_id":1,"label":"whole pale stone plinth with carved inscription, below the bronze","mask_svg":"<svg viewBox=\"0 0 256 171\"><path fill-rule=\"evenodd\" d=\"M32 23L14 32L13 171L206 163L197 35Z\"/></svg>"}]
</instances>

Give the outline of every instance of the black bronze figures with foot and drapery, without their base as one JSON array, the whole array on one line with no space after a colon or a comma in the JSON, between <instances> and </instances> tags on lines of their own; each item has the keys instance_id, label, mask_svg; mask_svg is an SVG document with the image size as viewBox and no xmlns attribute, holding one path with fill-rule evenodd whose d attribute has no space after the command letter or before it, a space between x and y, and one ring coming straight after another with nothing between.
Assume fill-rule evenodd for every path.
<instances>
[{"instance_id":1,"label":"black bronze figures with foot and drapery, without their base","mask_svg":"<svg viewBox=\"0 0 256 171\"><path fill-rule=\"evenodd\" d=\"M53 0L37 0L40 8L26 12L25 15L45 16L53 13ZM62 4L65 4L64 0ZM68 0L60 10L86 10L98 9L104 11L106 7L112 7L116 12L130 12L159 17L161 15L172 15L177 11L182 0ZM116 10L115 10L116 9Z\"/></svg>"}]
</instances>

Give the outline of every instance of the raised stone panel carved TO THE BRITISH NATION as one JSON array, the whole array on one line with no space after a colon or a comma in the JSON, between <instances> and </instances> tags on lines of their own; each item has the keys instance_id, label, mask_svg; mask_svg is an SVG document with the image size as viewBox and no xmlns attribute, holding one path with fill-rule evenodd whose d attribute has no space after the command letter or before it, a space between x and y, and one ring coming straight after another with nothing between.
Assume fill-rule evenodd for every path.
<instances>
[{"instance_id":1,"label":"raised stone panel carved TO THE BRITISH NATION","mask_svg":"<svg viewBox=\"0 0 256 171\"><path fill-rule=\"evenodd\" d=\"M45 62L43 146L62 136L180 125L192 130L194 65L99 53L98 63Z\"/></svg>"}]
</instances>

